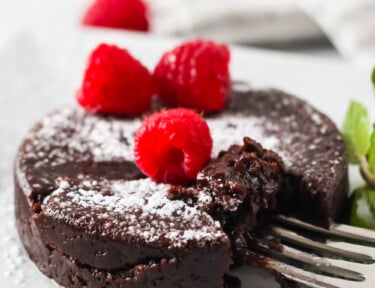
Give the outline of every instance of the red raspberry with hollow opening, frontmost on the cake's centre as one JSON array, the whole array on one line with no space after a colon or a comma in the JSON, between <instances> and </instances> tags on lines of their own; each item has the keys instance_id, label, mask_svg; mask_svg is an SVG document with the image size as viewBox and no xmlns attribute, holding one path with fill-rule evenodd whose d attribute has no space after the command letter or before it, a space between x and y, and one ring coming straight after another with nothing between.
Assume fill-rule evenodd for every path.
<instances>
[{"instance_id":1,"label":"red raspberry with hollow opening, frontmost on the cake's centre","mask_svg":"<svg viewBox=\"0 0 375 288\"><path fill-rule=\"evenodd\" d=\"M196 179L212 150L207 123L185 108L152 114L143 121L134 141L135 162L143 173L170 184Z\"/></svg>"}]
</instances>

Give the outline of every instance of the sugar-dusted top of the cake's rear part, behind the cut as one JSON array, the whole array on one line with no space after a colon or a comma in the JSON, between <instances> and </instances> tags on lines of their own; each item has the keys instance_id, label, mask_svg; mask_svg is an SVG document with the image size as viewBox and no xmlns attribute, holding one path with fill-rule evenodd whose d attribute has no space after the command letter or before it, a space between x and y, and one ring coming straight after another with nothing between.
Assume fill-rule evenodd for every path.
<instances>
[{"instance_id":1,"label":"sugar-dusted top of the cake's rear part, behind the cut","mask_svg":"<svg viewBox=\"0 0 375 288\"><path fill-rule=\"evenodd\" d=\"M206 117L214 157L248 136L276 151L287 170L302 170L304 177L315 175L316 181L334 176L335 168L346 163L339 131L306 102L277 90L251 90L233 98L229 109ZM22 157L36 167L74 161L134 162L133 136L140 124L140 118L103 117L67 106L34 127Z\"/></svg>"}]
</instances>

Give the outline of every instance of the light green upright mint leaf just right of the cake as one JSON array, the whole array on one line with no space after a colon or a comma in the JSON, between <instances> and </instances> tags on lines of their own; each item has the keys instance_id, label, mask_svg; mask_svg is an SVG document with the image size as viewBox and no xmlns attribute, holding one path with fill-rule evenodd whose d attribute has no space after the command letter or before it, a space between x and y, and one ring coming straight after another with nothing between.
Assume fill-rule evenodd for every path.
<instances>
[{"instance_id":1,"label":"light green upright mint leaf just right of the cake","mask_svg":"<svg viewBox=\"0 0 375 288\"><path fill-rule=\"evenodd\" d=\"M343 127L343 137L349 162L357 164L366 155L369 147L371 122L365 106L351 101Z\"/></svg>"}]
</instances>

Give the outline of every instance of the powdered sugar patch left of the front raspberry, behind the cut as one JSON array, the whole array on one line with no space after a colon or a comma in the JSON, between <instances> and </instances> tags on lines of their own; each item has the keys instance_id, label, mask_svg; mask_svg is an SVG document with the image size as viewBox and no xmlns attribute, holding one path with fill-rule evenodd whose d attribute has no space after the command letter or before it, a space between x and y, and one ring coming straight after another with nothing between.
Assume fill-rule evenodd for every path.
<instances>
[{"instance_id":1,"label":"powdered sugar patch left of the front raspberry, behind the cut","mask_svg":"<svg viewBox=\"0 0 375 288\"><path fill-rule=\"evenodd\" d=\"M140 119L117 119L65 107L46 117L26 142L27 158L57 166L72 161L133 161L133 137Z\"/></svg>"}]
</instances>

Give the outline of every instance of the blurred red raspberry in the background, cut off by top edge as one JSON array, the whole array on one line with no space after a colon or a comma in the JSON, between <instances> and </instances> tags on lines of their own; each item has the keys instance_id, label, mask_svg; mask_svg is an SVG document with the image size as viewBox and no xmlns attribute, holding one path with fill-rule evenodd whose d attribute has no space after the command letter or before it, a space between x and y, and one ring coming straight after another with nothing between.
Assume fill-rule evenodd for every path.
<instances>
[{"instance_id":1,"label":"blurred red raspberry in the background, cut off by top edge","mask_svg":"<svg viewBox=\"0 0 375 288\"><path fill-rule=\"evenodd\" d=\"M148 9L142 0L95 0L82 24L149 31Z\"/></svg>"}]
</instances>

